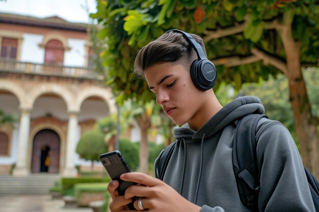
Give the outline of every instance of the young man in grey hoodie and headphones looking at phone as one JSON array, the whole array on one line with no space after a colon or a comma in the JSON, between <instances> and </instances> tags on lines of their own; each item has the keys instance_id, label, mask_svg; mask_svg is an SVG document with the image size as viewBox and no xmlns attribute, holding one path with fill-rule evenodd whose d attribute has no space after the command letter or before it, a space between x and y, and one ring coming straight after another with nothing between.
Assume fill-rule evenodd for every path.
<instances>
[{"instance_id":1,"label":"young man in grey hoodie and headphones looking at phone","mask_svg":"<svg viewBox=\"0 0 319 212\"><path fill-rule=\"evenodd\" d=\"M203 41L191 36L168 32L138 52L135 71L147 80L156 103L181 127L174 130L176 144L163 181L143 173L125 173L122 180L144 186L131 186L124 196L116 191L118 181L110 182L112 212L126 211L132 197L140 197L134 201L137 210L250 211L238 195L232 141L238 118L262 114L264 108L255 97L238 98L222 107L210 89L216 81L215 67L207 59L201 63L205 59ZM279 122L262 118L256 140L259 211L315 211L303 164L288 130ZM155 175L157 168L158 160Z\"/></svg>"}]
</instances>

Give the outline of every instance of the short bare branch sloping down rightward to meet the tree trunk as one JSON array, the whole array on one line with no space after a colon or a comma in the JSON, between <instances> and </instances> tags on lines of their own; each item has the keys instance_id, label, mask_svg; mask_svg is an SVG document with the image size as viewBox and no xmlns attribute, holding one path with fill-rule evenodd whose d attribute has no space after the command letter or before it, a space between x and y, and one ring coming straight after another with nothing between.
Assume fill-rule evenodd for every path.
<instances>
[{"instance_id":1,"label":"short bare branch sloping down rightward to meet the tree trunk","mask_svg":"<svg viewBox=\"0 0 319 212\"><path fill-rule=\"evenodd\" d=\"M251 53L259 57L260 59L263 60L263 63L265 65L271 64L272 66L276 67L279 69L284 75L287 76L288 73L288 68L286 63L282 62L282 60L278 59L277 57L274 57L268 53L262 52L257 48L252 48Z\"/></svg>"}]
</instances>

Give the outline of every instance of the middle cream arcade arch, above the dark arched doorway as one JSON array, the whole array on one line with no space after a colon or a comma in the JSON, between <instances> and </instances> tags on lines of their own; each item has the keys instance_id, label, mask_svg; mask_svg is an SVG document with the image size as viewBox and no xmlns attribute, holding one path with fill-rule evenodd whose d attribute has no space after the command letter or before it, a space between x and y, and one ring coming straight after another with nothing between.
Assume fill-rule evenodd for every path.
<instances>
[{"instance_id":1,"label":"middle cream arcade arch, above the dark arched doorway","mask_svg":"<svg viewBox=\"0 0 319 212\"><path fill-rule=\"evenodd\" d=\"M30 92L30 104L31 106L34 105L36 99L43 94L56 94L61 97L67 107L68 111L74 111L74 106L72 102L74 98L70 94L69 90L61 85L57 84L42 84L33 88Z\"/></svg>"}]
</instances>

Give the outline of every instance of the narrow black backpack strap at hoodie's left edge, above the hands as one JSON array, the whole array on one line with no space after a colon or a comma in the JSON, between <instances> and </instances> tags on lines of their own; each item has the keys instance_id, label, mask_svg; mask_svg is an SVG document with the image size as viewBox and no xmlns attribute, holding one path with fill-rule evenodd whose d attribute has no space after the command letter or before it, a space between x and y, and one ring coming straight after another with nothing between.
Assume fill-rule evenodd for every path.
<instances>
[{"instance_id":1,"label":"narrow black backpack strap at hoodie's left edge, above the hands","mask_svg":"<svg viewBox=\"0 0 319 212\"><path fill-rule=\"evenodd\" d=\"M173 154L173 150L175 148L176 141L168 145L162 152L159 154L157 158L157 174L155 174L155 177L158 179L163 180L164 179L164 174L167 169L168 163L170 161L170 158ZM156 176L157 175L157 176Z\"/></svg>"}]
</instances>

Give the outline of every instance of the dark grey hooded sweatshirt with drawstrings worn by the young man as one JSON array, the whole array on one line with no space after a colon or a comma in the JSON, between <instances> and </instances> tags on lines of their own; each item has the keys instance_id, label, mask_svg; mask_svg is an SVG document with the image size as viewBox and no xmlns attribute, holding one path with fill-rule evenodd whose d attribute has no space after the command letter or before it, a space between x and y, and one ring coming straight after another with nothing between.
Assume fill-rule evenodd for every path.
<instances>
[{"instance_id":1,"label":"dark grey hooded sweatshirt with drawstrings worn by the young man","mask_svg":"<svg viewBox=\"0 0 319 212\"><path fill-rule=\"evenodd\" d=\"M176 146L163 181L200 212L250 211L238 195L232 166L232 141L237 119L264 112L256 97L233 100L197 132L187 124L174 129ZM256 132L260 176L259 211L315 211L303 164L289 131L262 118ZM158 173L155 161L155 176Z\"/></svg>"}]
</instances>

